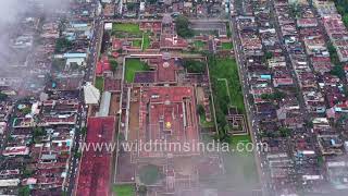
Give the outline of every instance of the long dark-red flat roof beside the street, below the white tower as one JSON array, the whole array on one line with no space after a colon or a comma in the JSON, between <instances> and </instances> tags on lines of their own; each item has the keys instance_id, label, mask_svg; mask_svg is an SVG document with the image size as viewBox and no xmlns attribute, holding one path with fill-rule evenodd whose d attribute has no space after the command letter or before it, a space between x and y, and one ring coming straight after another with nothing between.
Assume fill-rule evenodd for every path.
<instances>
[{"instance_id":1,"label":"long dark-red flat roof beside the street, below the white tower","mask_svg":"<svg viewBox=\"0 0 348 196\"><path fill-rule=\"evenodd\" d=\"M115 118L88 118L87 127L86 145L112 143L115 133ZM110 195L111 159L112 151L105 148L94 150L90 145L89 150L83 151L77 196Z\"/></svg>"}]
</instances>

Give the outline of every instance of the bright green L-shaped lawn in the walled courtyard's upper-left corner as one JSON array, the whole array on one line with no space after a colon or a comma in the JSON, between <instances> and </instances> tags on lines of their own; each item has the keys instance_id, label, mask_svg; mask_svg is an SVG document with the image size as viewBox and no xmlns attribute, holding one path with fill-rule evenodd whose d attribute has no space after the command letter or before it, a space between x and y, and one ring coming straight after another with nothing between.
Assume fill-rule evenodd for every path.
<instances>
[{"instance_id":1,"label":"bright green L-shaped lawn in the walled courtyard's upper-left corner","mask_svg":"<svg viewBox=\"0 0 348 196\"><path fill-rule=\"evenodd\" d=\"M140 59L127 59L125 64L125 79L127 83L133 83L136 72L148 70L149 65L140 61Z\"/></svg>"}]
</instances>

